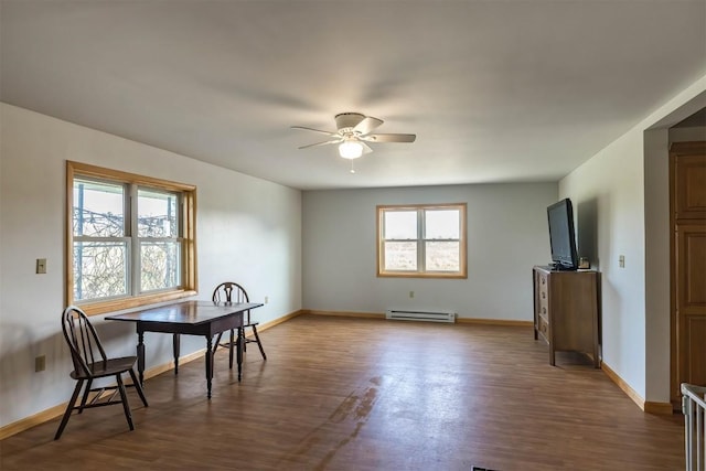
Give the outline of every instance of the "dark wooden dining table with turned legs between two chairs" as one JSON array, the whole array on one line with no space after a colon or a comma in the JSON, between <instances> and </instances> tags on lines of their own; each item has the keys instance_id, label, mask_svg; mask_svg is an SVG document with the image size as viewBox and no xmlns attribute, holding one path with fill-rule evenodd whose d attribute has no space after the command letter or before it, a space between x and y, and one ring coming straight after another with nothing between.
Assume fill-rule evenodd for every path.
<instances>
[{"instance_id":1,"label":"dark wooden dining table with turned legs between two chairs","mask_svg":"<svg viewBox=\"0 0 706 471\"><path fill-rule=\"evenodd\" d=\"M237 365L238 382L243 372L243 314L263 306L257 302L182 301L157 308L107 315L106 320L135 322L138 335L137 365L139 381L145 381L145 332L171 333L173 335L174 374L179 374L180 335L203 335L206 338L206 387L211 399L213 381L214 335L229 330L238 331Z\"/></svg>"}]
</instances>

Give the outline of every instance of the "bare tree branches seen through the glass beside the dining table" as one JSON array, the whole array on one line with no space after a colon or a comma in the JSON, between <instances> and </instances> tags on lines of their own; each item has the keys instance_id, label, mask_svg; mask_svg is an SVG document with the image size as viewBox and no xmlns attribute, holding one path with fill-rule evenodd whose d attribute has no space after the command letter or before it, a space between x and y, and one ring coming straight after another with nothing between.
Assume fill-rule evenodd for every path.
<instances>
[{"instance_id":1,"label":"bare tree branches seen through the glass beside the dining table","mask_svg":"<svg viewBox=\"0 0 706 471\"><path fill-rule=\"evenodd\" d=\"M74 179L75 300L130 296L137 279L139 292L180 285L179 193L140 188L129 197L135 190ZM137 215L136 229L130 214Z\"/></svg>"}]
</instances>

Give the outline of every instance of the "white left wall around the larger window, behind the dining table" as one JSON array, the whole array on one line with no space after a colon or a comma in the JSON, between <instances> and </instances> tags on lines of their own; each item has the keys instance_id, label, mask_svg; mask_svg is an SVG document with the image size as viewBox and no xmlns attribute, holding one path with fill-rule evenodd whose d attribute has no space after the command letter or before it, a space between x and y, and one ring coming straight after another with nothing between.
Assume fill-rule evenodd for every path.
<instances>
[{"instance_id":1,"label":"white left wall around the larger window, behind the dining table","mask_svg":"<svg viewBox=\"0 0 706 471\"><path fill-rule=\"evenodd\" d=\"M242 282L267 322L301 309L301 193L183 156L0 104L0 426L68 400L61 334L65 161L197 186L199 296ZM35 259L47 274L35 275ZM133 354L133 325L93 320L111 354ZM171 361L169 335L148 334L147 367ZM201 350L185 336L182 353ZM34 373L34 357L46 371ZM205 394L205 392L204 392Z\"/></svg>"}]
</instances>

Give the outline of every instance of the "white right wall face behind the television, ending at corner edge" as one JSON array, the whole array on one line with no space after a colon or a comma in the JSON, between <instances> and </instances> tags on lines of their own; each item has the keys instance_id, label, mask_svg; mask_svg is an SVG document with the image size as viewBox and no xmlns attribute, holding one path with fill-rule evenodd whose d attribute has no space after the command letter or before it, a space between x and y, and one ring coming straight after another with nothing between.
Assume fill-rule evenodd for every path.
<instances>
[{"instance_id":1,"label":"white right wall face behind the television, ending at corner edge","mask_svg":"<svg viewBox=\"0 0 706 471\"><path fill-rule=\"evenodd\" d=\"M561 180L559 194L574 202L579 234L596 234L591 265L601 271L603 362L644 397L642 171L642 136L629 133ZM581 214L586 207L592 218Z\"/></svg>"}]
</instances>

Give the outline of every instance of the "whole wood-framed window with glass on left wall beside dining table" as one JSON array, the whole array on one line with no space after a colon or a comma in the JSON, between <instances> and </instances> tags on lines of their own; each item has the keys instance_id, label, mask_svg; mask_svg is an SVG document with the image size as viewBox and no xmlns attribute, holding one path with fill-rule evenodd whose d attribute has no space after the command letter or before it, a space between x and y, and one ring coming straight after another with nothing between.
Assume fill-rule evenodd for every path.
<instances>
[{"instance_id":1,"label":"whole wood-framed window with glass on left wall beside dining table","mask_svg":"<svg viewBox=\"0 0 706 471\"><path fill-rule=\"evenodd\" d=\"M195 188L67 162L68 304L107 312L194 295Z\"/></svg>"}]
</instances>

